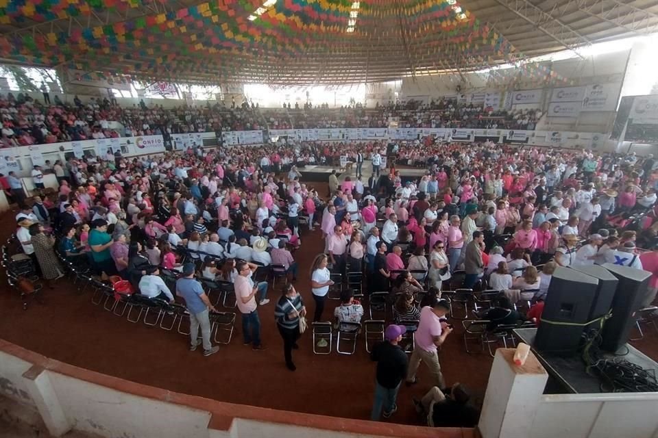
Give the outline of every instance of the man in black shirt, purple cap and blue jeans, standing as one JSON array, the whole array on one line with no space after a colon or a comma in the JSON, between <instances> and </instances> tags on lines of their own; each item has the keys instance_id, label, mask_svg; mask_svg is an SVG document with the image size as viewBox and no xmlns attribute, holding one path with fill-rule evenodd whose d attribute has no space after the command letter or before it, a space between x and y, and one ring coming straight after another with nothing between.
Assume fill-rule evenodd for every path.
<instances>
[{"instance_id":1,"label":"man in black shirt, purple cap and blue jeans, standing","mask_svg":"<svg viewBox=\"0 0 658 438\"><path fill-rule=\"evenodd\" d=\"M398 346L404 333L405 326L389 325L384 334L386 341L377 344L370 353L370 359L377 362L375 401L372 404L370 420L379 421L380 415L388 418L398 411L395 399L398 398L398 389L402 379L406 377L409 363L406 354Z\"/></svg>"}]
</instances>

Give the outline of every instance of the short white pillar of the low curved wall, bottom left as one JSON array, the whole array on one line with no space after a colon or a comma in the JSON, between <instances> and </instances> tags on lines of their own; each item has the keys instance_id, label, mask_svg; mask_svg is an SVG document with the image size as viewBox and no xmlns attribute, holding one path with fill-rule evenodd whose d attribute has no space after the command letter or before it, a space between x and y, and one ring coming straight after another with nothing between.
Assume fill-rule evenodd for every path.
<instances>
[{"instance_id":1,"label":"short white pillar of the low curved wall, bottom left","mask_svg":"<svg viewBox=\"0 0 658 438\"><path fill-rule=\"evenodd\" d=\"M66 418L46 370L34 365L23 374L23 379L50 435L61 437L69 432L71 424Z\"/></svg>"}]
</instances>

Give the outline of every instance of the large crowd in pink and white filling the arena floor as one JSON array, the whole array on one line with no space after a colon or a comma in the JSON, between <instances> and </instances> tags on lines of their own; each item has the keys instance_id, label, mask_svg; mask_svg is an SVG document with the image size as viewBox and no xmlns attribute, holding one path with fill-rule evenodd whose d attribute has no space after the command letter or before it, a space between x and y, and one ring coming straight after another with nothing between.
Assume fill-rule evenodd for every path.
<instances>
[{"instance_id":1,"label":"large crowd in pink and white filling the arena floor","mask_svg":"<svg viewBox=\"0 0 658 438\"><path fill-rule=\"evenodd\" d=\"M476 421L467 389L446 385L439 362L439 347L452 332L443 294L454 285L499 290L498 304L482 315L494 325L540 324L559 266L609 262L648 270L653 276L644 304L655 298L658 171L652 156L441 144L432 138L387 146L300 142L158 157L71 158L56 163L58 193L38 189L34 198L16 200L22 207L16 236L51 285L64 272L56 249L101 276L121 277L149 298L184 300L191 315L190 349L200 345L206 356L218 351L209 322L217 309L202 281L231 285L243 342L263 350L260 317L270 302L268 279L285 279L269 313L291 371L311 311L313 322L332 316L338 327L362 322L361 297L355 299L348 287L332 316L325 307L334 279L364 274L365 295L384 292L393 309L386 340L372 353L378 362L372 420L395 413L402 381L417 383L422 362L432 379L416 407L429 424ZM332 173L329 196L304 182L302 166L331 163L338 155L361 162L356 175L339 181ZM426 172L405 178L396 168L400 164L425 166ZM364 166L372 166L367 179ZM314 248L310 284L297 283L295 250L307 244L305 235L315 227L324 248ZM178 279L158 281L163 272ZM313 302L297 288L310 289ZM409 321L417 329L408 359L400 342Z\"/></svg>"}]
</instances>

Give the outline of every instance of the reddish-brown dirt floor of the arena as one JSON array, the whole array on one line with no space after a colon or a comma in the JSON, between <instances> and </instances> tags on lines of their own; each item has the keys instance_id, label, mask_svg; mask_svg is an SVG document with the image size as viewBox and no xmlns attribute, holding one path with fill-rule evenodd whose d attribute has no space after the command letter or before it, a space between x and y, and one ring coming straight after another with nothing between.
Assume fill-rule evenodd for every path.
<instances>
[{"instance_id":1,"label":"reddish-brown dirt floor of the arena","mask_svg":"<svg viewBox=\"0 0 658 438\"><path fill-rule=\"evenodd\" d=\"M316 184L318 185L318 184ZM14 214L1 220L0 238L5 240L13 229ZM302 248L295 253L300 263L296 283L308 309L310 297L308 268L324 244L318 228L302 233ZM310 331L300 339L300 350L293 352L296 372L285 368L283 344L276 329L274 302L258 309L263 324L265 351L243 346L240 319L230 345L220 352L203 357L200 350L188 351L188 337L142 323L132 324L91 303L91 294L77 294L68 279L60 280L56 289L45 291L42 305L33 303L23 311L21 300L6 285L0 293L0 337L53 359L88 368L129 381L145 383L185 394L215 400L251 404L273 409L367 419L374 390L375 364L365 351L363 337L358 339L356 354L328 356L313 354ZM269 297L279 292L270 288ZM338 301L328 300L324 318L332 319ZM491 357L468 355L461 337L461 322L441 350L441 367L450 385L461 382L472 389L476 400L484 396ZM645 338L634 345L653 359L658 359L658 333L645 330ZM421 397L431 386L429 374L421 365L419 383L402 385L398 396L398 413L388 421L419 424L411 398ZM386 420L385 420L386 421Z\"/></svg>"}]
</instances>

